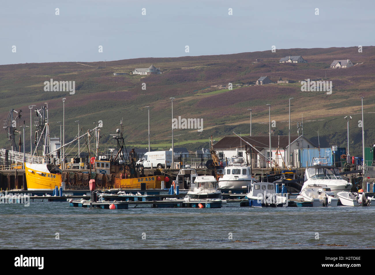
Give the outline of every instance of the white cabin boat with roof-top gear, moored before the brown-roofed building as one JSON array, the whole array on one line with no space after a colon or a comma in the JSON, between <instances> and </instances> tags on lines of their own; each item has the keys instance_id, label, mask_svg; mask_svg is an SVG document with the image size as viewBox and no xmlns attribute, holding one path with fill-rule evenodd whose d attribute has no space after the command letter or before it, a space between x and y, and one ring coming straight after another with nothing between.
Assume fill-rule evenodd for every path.
<instances>
[{"instance_id":1,"label":"white cabin boat with roof-top gear, moored before the brown-roofed building","mask_svg":"<svg viewBox=\"0 0 375 275\"><path fill-rule=\"evenodd\" d=\"M242 157L236 156L224 168L223 177L219 178L218 185L220 189L248 189L254 182L257 180L251 176L250 166L246 165Z\"/></svg>"}]
</instances>

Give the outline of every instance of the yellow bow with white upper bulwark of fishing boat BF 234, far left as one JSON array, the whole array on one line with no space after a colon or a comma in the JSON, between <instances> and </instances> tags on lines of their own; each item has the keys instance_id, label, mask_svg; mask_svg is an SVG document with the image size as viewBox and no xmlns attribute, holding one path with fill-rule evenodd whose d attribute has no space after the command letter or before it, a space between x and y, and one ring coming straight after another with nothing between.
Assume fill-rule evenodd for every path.
<instances>
[{"instance_id":1,"label":"yellow bow with white upper bulwark of fishing boat BF 234, far left","mask_svg":"<svg viewBox=\"0 0 375 275\"><path fill-rule=\"evenodd\" d=\"M61 186L62 172L52 164L25 162L27 190L53 190Z\"/></svg>"}]
</instances>

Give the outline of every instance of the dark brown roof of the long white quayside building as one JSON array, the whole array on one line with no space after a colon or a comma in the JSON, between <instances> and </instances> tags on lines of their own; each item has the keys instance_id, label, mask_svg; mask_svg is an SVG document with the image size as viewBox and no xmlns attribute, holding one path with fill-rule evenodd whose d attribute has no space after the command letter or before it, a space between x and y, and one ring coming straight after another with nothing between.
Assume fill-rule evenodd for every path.
<instances>
[{"instance_id":1,"label":"dark brown roof of the long white quayside building","mask_svg":"<svg viewBox=\"0 0 375 275\"><path fill-rule=\"evenodd\" d=\"M266 136L257 136L257 137L242 137L252 146L256 147L258 150L263 148L270 147L270 137L269 135ZM290 136L290 143L297 140L299 137L297 135ZM306 138L304 138L307 140ZM309 140L307 140L309 141ZM309 141L310 142L310 141ZM311 143L311 142L310 142ZM312 143L311 143L312 144ZM247 145L244 141L242 141L239 137L223 137L217 143L214 144L214 149L230 149L230 148L239 148L240 146ZM313 144L314 145L314 144ZM288 135L272 135L271 136L271 147L272 148L287 148L289 146L289 136Z\"/></svg>"}]
</instances>

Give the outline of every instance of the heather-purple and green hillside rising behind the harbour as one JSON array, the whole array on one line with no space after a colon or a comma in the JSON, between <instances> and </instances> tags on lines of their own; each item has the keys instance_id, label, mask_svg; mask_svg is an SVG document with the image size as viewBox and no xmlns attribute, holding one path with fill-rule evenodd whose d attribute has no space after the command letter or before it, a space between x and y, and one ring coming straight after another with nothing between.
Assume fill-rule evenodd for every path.
<instances>
[{"instance_id":1,"label":"heather-purple and green hillside rising behind the harbour","mask_svg":"<svg viewBox=\"0 0 375 275\"><path fill-rule=\"evenodd\" d=\"M308 63L279 63L281 57L302 55ZM355 65L347 69L328 69L334 59L351 59ZM257 61L258 60L258 61ZM131 72L151 64L162 74L114 76L114 72ZM89 66L87 66L89 65ZM99 69L98 67L105 67ZM77 134L77 123L84 129L103 121L101 143L107 152L113 147L110 134L124 120L126 144L147 146L147 109L150 106L151 148L171 146L171 101L174 117L203 119L203 131L175 129L175 146L195 150L208 147L208 137L219 140L232 131L249 134L252 109L252 134L268 133L269 110L276 121L275 134L288 134L288 99L291 101L292 133L297 134L297 122L304 120L304 135L320 146L346 147L346 120L351 115L350 138L352 154L362 154L361 99L364 98L366 146L375 143L372 120L375 114L375 47L281 49L231 55L184 56L178 58L139 58L104 62L54 62L12 64L0 66L0 116L6 119L9 109L23 110L22 119L30 124L28 105L40 107L48 102L52 136L60 135L66 97L66 140ZM211 85L255 82L268 76L273 82L296 80L291 84L241 86L229 91L207 88ZM331 95L326 92L302 92L298 80L324 79L332 81ZM75 94L45 92L43 82L75 81ZM146 83L146 90L142 90ZM33 127L33 129L35 129ZM27 131L29 131L27 129ZM30 132L26 132L26 148ZM110 141L110 142L108 142ZM9 148L5 131L0 135L0 147ZM27 151L27 150L26 150Z\"/></svg>"}]
</instances>

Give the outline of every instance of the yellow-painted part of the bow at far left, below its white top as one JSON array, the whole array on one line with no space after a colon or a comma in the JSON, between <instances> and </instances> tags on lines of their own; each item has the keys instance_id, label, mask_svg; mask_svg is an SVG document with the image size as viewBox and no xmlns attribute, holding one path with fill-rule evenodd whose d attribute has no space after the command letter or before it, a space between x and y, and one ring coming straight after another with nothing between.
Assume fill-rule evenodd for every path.
<instances>
[{"instance_id":1,"label":"yellow-painted part of the bow at far left, below its white top","mask_svg":"<svg viewBox=\"0 0 375 275\"><path fill-rule=\"evenodd\" d=\"M53 190L61 186L62 175L51 174L45 171L27 167L25 164L27 190Z\"/></svg>"}]
</instances>

